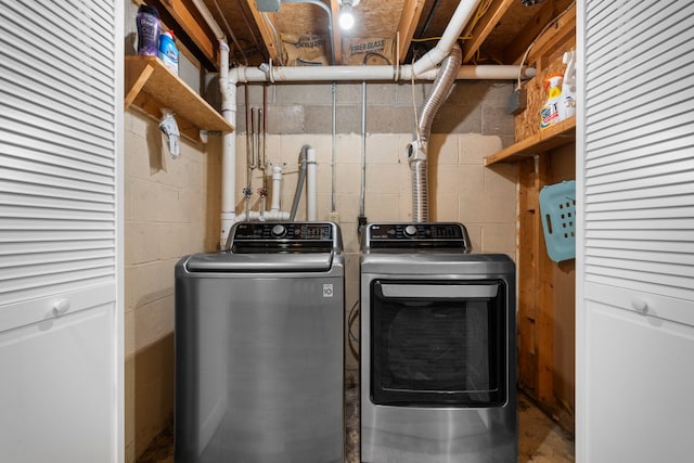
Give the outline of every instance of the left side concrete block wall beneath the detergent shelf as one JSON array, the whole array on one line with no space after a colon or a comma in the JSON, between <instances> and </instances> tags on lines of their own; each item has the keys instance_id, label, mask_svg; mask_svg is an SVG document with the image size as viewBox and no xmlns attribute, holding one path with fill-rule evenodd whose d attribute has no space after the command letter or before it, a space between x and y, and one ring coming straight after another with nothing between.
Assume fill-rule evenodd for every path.
<instances>
[{"instance_id":1,"label":"left side concrete block wall beneath the detergent shelf","mask_svg":"<svg viewBox=\"0 0 694 463\"><path fill-rule=\"evenodd\" d=\"M172 159L157 121L125 116L126 461L174 413L174 266L219 241L220 143L181 143ZM166 144L166 143L164 143Z\"/></svg>"}]
</instances>

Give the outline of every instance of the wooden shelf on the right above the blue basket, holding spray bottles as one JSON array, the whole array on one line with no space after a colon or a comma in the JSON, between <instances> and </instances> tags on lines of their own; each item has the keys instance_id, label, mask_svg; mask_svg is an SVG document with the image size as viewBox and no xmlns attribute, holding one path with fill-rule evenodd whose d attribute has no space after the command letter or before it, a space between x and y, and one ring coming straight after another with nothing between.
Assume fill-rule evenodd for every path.
<instances>
[{"instance_id":1,"label":"wooden shelf on the right above the blue basket, holding spray bottles","mask_svg":"<svg viewBox=\"0 0 694 463\"><path fill-rule=\"evenodd\" d=\"M576 117L562 120L517 143L485 158L485 166L496 163L516 163L545 151L553 150L576 140Z\"/></svg>"}]
</instances>

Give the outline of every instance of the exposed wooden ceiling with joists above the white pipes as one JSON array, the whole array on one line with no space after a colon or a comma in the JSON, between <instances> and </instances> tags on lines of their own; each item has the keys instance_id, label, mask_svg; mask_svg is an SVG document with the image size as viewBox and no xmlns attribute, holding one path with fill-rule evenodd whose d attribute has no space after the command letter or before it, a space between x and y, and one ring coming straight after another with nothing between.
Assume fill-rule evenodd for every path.
<instances>
[{"instance_id":1,"label":"exposed wooden ceiling with joists above the white pipes","mask_svg":"<svg viewBox=\"0 0 694 463\"><path fill-rule=\"evenodd\" d=\"M197 21L196 11L191 11L193 0L145 1L166 9L167 15L187 29L191 43L202 50L196 56L216 64L216 38L204 22ZM321 56L311 59L323 64L356 64L361 62L361 55L354 50L368 50L380 42L393 44L393 49L380 51L388 60L416 60L436 44L459 1L473 0L360 0L355 8L357 22L349 31L338 26L339 0L278 0L279 11L267 13L258 10L256 0L202 1L232 38L233 65L257 66L272 60L277 66L294 65L296 60L285 63L280 59L303 52L300 47L285 50L285 44L287 39L304 37L311 38L312 43L319 38L332 42L332 50L326 44ZM479 62L517 64L542 28L571 1L544 0L526 7L520 0L483 0L483 13L475 15L462 33L468 37L463 41L463 63L475 62L479 56ZM383 60L368 60L364 64L383 64Z\"/></svg>"}]
</instances>

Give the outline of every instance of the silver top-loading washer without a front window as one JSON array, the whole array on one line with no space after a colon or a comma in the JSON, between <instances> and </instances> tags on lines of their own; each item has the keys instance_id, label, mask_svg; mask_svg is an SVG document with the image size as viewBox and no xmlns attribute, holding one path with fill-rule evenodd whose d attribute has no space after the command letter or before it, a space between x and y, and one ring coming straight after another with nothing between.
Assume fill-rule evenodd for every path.
<instances>
[{"instance_id":1,"label":"silver top-loading washer without a front window","mask_svg":"<svg viewBox=\"0 0 694 463\"><path fill-rule=\"evenodd\" d=\"M339 229L230 233L228 250L176 266L176 462L343 462Z\"/></svg>"}]
</instances>

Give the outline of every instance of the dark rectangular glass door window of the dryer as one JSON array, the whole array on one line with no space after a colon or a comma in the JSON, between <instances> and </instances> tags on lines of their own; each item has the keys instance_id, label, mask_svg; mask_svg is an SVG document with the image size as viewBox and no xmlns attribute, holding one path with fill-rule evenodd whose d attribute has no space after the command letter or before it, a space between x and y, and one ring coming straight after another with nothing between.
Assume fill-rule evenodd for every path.
<instances>
[{"instance_id":1,"label":"dark rectangular glass door window of the dryer","mask_svg":"<svg viewBox=\"0 0 694 463\"><path fill-rule=\"evenodd\" d=\"M371 286L376 404L499 407L506 401L502 281L377 280Z\"/></svg>"}]
</instances>

